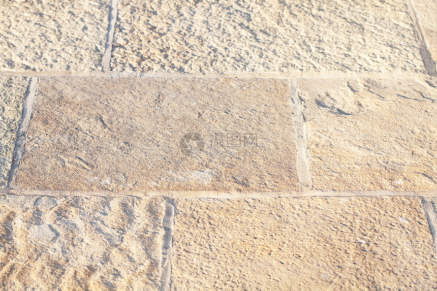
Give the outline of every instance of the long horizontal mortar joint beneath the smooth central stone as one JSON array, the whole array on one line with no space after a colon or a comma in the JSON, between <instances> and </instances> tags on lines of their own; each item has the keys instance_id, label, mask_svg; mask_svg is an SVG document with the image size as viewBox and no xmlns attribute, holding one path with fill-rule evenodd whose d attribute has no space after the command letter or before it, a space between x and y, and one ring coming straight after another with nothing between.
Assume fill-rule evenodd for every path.
<instances>
[{"instance_id":1,"label":"long horizontal mortar joint beneath the smooth central stone","mask_svg":"<svg viewBox=\"0 0 437 291\"><path fill-rule=\"evenodd\" d=\"M1 193L1 192L0 192ZM49 196L49 197L150 197L162 196L170 199L267 199L267 198L303 198L303 197L436 197L437 190L432 191L322 191L309 190L307 192L220 192L220 191L53 191L53 190L25 190L10 189L8 193L19 196Z\"/></svg>"}]
</instances>

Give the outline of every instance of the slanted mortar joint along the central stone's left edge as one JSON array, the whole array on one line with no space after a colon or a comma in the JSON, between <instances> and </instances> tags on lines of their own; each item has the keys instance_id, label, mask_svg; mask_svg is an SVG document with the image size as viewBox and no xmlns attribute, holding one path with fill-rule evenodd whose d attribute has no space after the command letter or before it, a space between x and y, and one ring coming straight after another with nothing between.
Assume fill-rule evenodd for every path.
<instances>
[{"instance_id":1,"label":"slanted mortar joint along the central stone's left edge","mask_svg":"<svg viewBox=\"0 0 437 291\"><path fill-rule=\"evenodd\" d=\"M23 115L18 127L17 139L15 140L14 158L12 161L11 171L9 172L8 189L14 187L15 177L18 173L20 160L24 153L24 145L26 143L27 130L29 128L30 118L34 108L35 94L38 87L39 78L30 78L27 86L26 96L23 102Z\"/></svg>"}]
</instances>

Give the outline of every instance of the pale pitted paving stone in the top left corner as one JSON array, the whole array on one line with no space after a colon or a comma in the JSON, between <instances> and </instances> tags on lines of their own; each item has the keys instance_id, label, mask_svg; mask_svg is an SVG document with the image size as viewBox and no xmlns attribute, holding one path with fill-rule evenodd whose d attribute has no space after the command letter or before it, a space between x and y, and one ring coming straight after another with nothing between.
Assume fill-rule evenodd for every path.
<instances>
[{"instance_id":1,"label":"pale pitted paving stone in the top left corner","mask_svg":"<svg viewBox=\"0 0 437 291\"><path fill-rule=\"evenodd\" d=\"M110 0L0 3L0 71L102 69Z\"/></svg>"}]
</instances>

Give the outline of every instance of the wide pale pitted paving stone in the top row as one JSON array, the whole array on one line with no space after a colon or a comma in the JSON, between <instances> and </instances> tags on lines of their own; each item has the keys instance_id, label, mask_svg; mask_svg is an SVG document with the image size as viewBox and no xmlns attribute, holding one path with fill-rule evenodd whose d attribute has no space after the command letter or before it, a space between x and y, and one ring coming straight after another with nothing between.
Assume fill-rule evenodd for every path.
<instances>
[{"instance_id":1,"label":"wide pale pitted paving stone in the top row","mask_svg":"<svg viewBox=\"0 0 437 291\"><path fill-rule=\"evenodd\" d=\"M111 67L186 73L425 72L402 0L120 0Z\"/></svg>"}]
</instances>

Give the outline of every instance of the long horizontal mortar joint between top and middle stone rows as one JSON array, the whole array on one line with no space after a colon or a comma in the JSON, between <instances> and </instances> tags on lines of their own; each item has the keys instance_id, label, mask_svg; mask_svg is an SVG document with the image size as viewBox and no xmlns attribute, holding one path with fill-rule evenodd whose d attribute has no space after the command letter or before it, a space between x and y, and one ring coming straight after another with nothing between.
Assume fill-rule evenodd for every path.
<instances>
[{"instance_id":1,"label":"long horizontal mortar joint between top and middle stone rows","mask_svg":"<svg viewBox=\"0 0 437 291\"><path fill-rule=\"evenodd\" d=\"M409 72L385 72L385 73L352 73L352 72L302 72L296 71L293 73L224 73L224 74L191 74L191 73L138 73L138 72L0 72L0 76L23 76L23 77L102 77L102 78L201 78L201 79L217 79L217 78L245 78L245 79L320 79L320 78L371 78L371 79L414 79L414 78L429 78L429 75L423 73Z\"/></svg>"}]
</instances>

